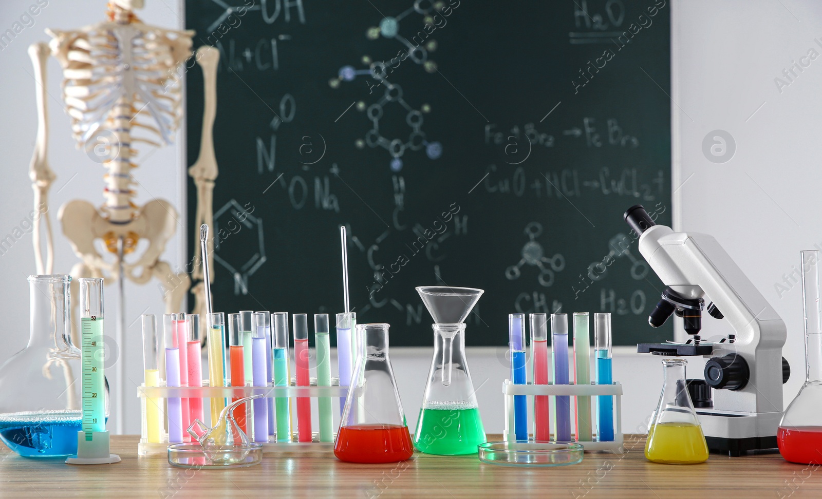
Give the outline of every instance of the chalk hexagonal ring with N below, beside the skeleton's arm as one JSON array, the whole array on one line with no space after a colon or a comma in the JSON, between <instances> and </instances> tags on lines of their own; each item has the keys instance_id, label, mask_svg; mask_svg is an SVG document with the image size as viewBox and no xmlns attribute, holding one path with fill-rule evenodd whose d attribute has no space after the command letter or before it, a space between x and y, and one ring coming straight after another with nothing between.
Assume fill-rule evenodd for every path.
<instances>
[{"instance_id":1,"label":"chalk hexagonal ring with N below, beside the skeleton's arm","mask_svg":"<svg viewBox=\"0 0 822 499\"><path fill-rule=\"evenodd\" d=\"M239 220L242 218L242 220ZM232 223L233 222L233 223ZM234 279L234 295L248 294L248 277L252 276L258 268L266 263L266 245L263 242L262 219L247 213L245 208L235 200L231 199L214 214L214 231L219 235L220 229L228 233L227 237L214 238L214 261L222 265ZM242 242L234 242L235 247L244 248L247 251L247 258L244 262L233 264L219 256L220 243L224 239L238 238L235 234L245 232L239 239ZM242 254L242 252L240 252ZM238 257L243 259L245 257Z\"/></svg>"}]
</instances>

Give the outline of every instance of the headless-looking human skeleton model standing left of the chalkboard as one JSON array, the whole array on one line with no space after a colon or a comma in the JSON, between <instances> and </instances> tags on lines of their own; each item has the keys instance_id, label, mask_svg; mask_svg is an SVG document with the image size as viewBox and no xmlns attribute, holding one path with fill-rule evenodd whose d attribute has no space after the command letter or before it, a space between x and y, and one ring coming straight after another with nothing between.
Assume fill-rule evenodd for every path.
<instances>
[{"instance_id":1,"label":"headless-looking human skeleton model standing left of the chalkboard","mask_svg":"<svg viewBox=\"0 0 822 499\"><path fill-rule=\"evenodd\" d=\"M142 142L155 147L159 147L160 142L169 144L178 128L182 116L178 69L191 55L193 31L143 24L132 12L142 5L142 0L113 0L109 2L109 21L80 30L46 30L53 37L48 44L50 53L62 65L62 97L72 118L72 135L78 147L93 149L90 158L96 158L107 170L105 203L99 209L88 201L76 199L60 208L58 218L63 234L81 259L72 268L72 277L75 277L72 293L77 291L76 277L110 277L121 283L129 279L138 284L156 277L163 286L165 312L173 313L180 310L191 281L185 272L173 272L169 263L159 256L174 234L178 215L173 206L162 199L153 199L143 206L132 203L136 195L132 186L139 182L132 177L131 170L136 167L134 144ZM30 47L30 56L35 62L40 121L30 177L35 190L35 209L43 214L48 212L48 188L56 178L48 167L45 153L48 130L44 73L48 49L44 43L35 43ZM191 168L198 189L196 227L201 221L211 222L210 198L217 176L210 133L216 108L214 87L218 57L214 48L202 48L197 54L205 76L206 106L201 157ZM39 218L35 227L38 272L51 272L53 267L48 214L45 220L45 265ZM113 263L107 262L95 249L98 239L114 254ZM148 243L141 256L126 262L123 256L133 253L141 240Z\"/></svg>"}]
</instances>

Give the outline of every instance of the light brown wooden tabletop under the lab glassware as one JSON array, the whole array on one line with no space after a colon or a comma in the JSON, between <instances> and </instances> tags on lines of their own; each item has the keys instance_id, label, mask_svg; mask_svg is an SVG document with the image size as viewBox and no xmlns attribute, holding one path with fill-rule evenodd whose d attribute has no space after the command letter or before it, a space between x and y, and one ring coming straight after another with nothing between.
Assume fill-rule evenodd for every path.
<instances>
[{"instance_id":1,"label":"light brown wooden tabletop under the lab glassware","mask_svg":"<svg viewBox=\"0 0 822 499\"><path fill-rule=\"evenodd\" d=\"M266 454L261 465L245 469L192 470L136 456L137 440L112 437L122 462L97 466L29 460L0 445L0 497L822 497L818 466L792 465L778 454L657 465L644 459L640 435L626 435L624 454L586 454L579 465L551 469L424 454L399 464L352 465L321 451Z\"/></svg>"}]
</instances>

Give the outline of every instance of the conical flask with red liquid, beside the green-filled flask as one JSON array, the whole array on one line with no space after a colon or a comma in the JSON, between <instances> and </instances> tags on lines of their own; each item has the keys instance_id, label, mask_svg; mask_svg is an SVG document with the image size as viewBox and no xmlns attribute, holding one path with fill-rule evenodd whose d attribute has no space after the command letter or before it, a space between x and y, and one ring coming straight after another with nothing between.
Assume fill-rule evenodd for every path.
<instances>
[{"instance_id":1,"label":"conical flask with red liquid, beside the green-filled flask","mask_svg":"<svg viewBox=\"0 0 822 499\"><path fill-rule=\"evenodd\" d=\"M357 363L334 455L349 463L395 463L413 455L388 357L388 324L357 325Z\"/></svg>"}]
</instances>

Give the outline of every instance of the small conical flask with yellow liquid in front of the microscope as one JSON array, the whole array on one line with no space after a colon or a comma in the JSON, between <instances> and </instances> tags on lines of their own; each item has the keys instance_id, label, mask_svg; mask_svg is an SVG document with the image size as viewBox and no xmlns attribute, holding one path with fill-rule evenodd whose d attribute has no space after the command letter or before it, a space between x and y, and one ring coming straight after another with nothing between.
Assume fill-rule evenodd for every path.
<instances>
[{"instance_id":1,"label":"small conical flask with yellow liquid in front of the microscope","mask_svg":"<svg viewBox=\"0 0 822 499\"><path fill-rule=\"evenodd\" d=\"M683 359L663 359L665 384L651 419L645 457L665 465L695 465L708 460L700 420L690 401Z\"/></svg>"}]
</instances>

